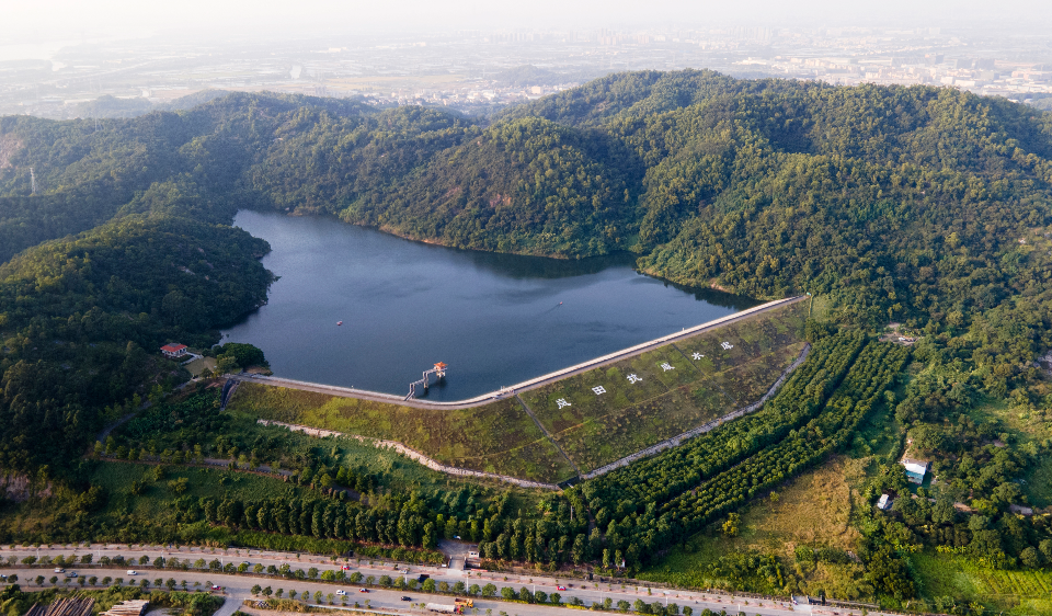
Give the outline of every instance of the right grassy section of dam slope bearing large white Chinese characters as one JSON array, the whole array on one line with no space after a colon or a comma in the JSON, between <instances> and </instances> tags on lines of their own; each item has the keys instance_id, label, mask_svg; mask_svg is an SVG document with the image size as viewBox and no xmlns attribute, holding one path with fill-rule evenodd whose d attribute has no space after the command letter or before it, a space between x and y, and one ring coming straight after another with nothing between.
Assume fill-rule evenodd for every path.
<instances>
[{"instance_id":1,"label":"right grassy section of dam slope bearing large white Chinese characters","mask_svg":"<svg viewBox=\"0 0 1052 616\"><path fill-rule=\"evenodd\" d=\"M570 459L592 470L759 400L800 355L805 316L801 301L522 398Z\"/></svg>"}]
</instances>

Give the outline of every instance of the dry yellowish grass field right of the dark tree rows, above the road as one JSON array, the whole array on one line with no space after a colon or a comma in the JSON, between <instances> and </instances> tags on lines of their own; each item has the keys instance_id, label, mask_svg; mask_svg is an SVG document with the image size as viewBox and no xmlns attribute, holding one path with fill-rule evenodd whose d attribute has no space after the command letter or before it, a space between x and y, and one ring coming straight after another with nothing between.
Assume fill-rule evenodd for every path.
<instances>
[{"instance_id":1,"label":"dry yellowish grass field right of the dark tree rows, above the road","mask_svg":"<svg viewBox=\"0 0 1052 616\"><path fill-rule=\"evenodd\" d=\"M797 546L833 548L838 554L855 549L858 532L850 525L851 488L848 478L862 474L862 461L846 457L807 472L776 497L757 500L741 512L740 533L725 537L712 529L676 547L660 563L639 578L695 588L737 586L712 574L712 567L727 555L761 554L785 563L792 592L851 600L864 596L866 584L860 563L796 563ZM781 591L767 580L745 580L744 590Z\"/></svg>"}]
</instances>

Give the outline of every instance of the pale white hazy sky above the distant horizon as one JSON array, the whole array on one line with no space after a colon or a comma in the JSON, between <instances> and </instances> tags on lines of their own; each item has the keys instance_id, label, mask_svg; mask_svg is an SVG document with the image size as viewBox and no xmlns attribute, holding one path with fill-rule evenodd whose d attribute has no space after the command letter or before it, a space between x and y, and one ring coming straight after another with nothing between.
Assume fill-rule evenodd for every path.
<instances>
[{"instance_id":1,"label":"pale white hazy sky above the distant horizon","mask_svg":"<svg viewBox=\"0 0 1052 616\"><path fill-rule=\"evenodd\" d=\"M821 23L1033 28L1041 0L4 0L0 45L100 35L290 35L425 28ZM10 27L15 25L15 27Z\"/></svg>"}]
</instances>

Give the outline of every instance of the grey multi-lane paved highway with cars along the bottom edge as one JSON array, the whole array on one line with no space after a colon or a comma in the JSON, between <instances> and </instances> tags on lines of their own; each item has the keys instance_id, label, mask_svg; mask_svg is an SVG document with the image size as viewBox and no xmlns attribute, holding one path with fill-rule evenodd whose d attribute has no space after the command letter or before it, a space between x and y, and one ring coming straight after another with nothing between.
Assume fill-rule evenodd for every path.
<instances>
[{"instance_id":1,"label":"grey multi-lane paved highway with cars along the bottom edge","mask_svg":"<svg viewBox=\"0 0 1052 616\"><path fill-rule=\"evenodd\" d=\"M26 556L69 556L76 554L78 556L83 556L91 554L95 562L99 561L99 558L102 556L116 556L122 555L126 559L138 558L140 556L148 556L150 560L158 556L163 556L165 558L178 557L181 560L191 558L196 560L197 558L204 558L206 561L211 561L213 559L220 559L220 561L226 564L228 562L240 563L248 561L252 564L274 564L275 567L281 567L282 564L289 564L295 571L296 569L307 570L310 567L318 568L319 571L329 570L340 570L343 564L343 560L334 561L330 558L323 557L310 557L310 556L297 556L295 554L284 554L284 552L273 552L273 551L261 551L261 550L248 550L248 549L217 549L213 551L209 548L181 548L181 549L165 549L160 546L153 547L144 547L144 548L129 548L127 546L93 546L92 548L79 547L73 549L72 546L67 546L64 548L42 548L37 550L36 548L12 548L10 546L0 546L0 559L7 561L8 557L14 556L19 560ZM569 601L570 597L575 596L581 598L585 604L592 604L595 602L603 602L605 598L609 597L614 601L616 605L618 601L627 601L629 603L634 603L637 598L642 598L648 603L653 603L655 601L667 601L667 603L676 603L681 607L685 605L690 605L694 607L695 613L699 613L701 609L708 607L714 612L720 609L727 609L728 613L734 614L735 611L741 605L741 608L746 612L750 616L753 614L759 614L763 616L770 615L786 615L790 612L793 612L793 606L786 602L778 601L757 601L755 598L744 598L735 597L733 595L725 594L714 594L714 593L700 593L695 591L677 591L677 590L662 590L654 589L648 591L645 586L620 586L620 585L610 585L603 583L592 583L592 582L582 582L578 581L568 581L568 580L558 580L553 578L529 578L526 575L516 575L503 573L491 573L485 571L450 571L448 569L439 567L420 567L420 566L405 566L398 564L397 567L390 563L374 563L369 564L367 559L362 559L362 563L357 562L357 559L350 559L350 566L352 567L348 573L359 571L363 575L368 577L373 575L379 578L380 575L390 575L397 578L401 575L401 571L409 569L410 577L419 575L421 573L426 573L436 581L445 581L450 585L458 581L462 581L466 585L479 584L484 586L488 583L493 583L500 589L504 586L513 588L518 591L523 586L527 586L530 591L545 591L548 594L558 592L562 595L563 601ZM384 590L371 590L369 593L358 593L357 588L351 585L350 583L335 584L327 582L311 582L311 581L301 581L301 580L287 580L281 577L271 577L271 575L253 575L253 574L241 574L232 575L226 573L219 573L216 571L182 571L182 570L172 570L172 569L153 569L151 567L140 567L138 564L127 564L124 568L84 568L83 566L67 566L67 571L77 571L82 575L95 575L100 579L108 575L111 578L124 578L125 583L128 582L132 578L127 575L127 570L133 569L137 571L138 575L136 579L164 579L173 578L176 582L186 580L191 590L194 589L194 582L199 582L202 586L206 583L217 583L227 588L228 597L230 601L227 601L224 607L217 613L217 616L229 616L232 614L240 605L241 602L245 598L251 597L250 589L254 584L260 584L261 586L271 586L274 590L278 588L285 589L286 593L290 590L296 590L299 593L304 591L309 591L313 594L316 591L321 591L323 594L330 592L334 593L336 590L347 591L348 596L347 601L353 605L355 601L364 603L365 598L370 601L370 605L377 608L382 609L400 609L402 612L412 613L413 609L410 608L405 602L400 601L400 597L403 595L411 596L413 602L432 602L432 603L451 603L451 600L448 596L443 595L425 595L419 591L384 591ZM32 580L37 575L44 575L47 579L50 579L52 575L56 573L52 572L52 568L35 568L30 569L22 566L0 566L0 573L10 574L18 573L19 578L24 583L26 580ZM76 582L75 582L76 583ZM557 590L558 584L563 584L567 586L565 591ZM31 586L33 588L33 586ZM666 594L667 593L667 594ZM484 614L485 609L493 609L493 614L499 612L507 612L510 615L515 616L553 616L552 612L565 611L567 608L549 607L542 605L527 605L518 603L506 603L501 601L493 600L478 600L476 601L476 607L479 608L480 614ZM812 614L820 615L831 615L831 614L859 614L858 612L851 612L846 609L833 609L833 608L822 608L822 607L805 607L798 606L796 612L807 612ZM420 611L415 611L420 613ZM871 612L870 614L877 614Z\"/></svg>"}]
</instances>

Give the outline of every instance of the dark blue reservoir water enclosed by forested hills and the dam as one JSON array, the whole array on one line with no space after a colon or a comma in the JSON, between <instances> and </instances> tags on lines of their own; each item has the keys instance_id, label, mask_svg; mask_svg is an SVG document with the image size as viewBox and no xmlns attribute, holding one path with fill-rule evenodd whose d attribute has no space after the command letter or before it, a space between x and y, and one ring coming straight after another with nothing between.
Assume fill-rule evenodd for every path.
<instances>
[{"instance_id":1,"label":"dark blue reservoir water enclosed by forested hills and the dam","mask_svg":"<svg viewBox=\"0 0 1052 616\"><path fill-rule=\"evenodd\" d=\"M328 385L405 395L445 362L427 398L460 400L758 304L639 274L630 254L465 251L252 210L235 225L271 243L263 265L279 280L224 342L259 346L275 376Z\"/></svg>"}]
</instances>

